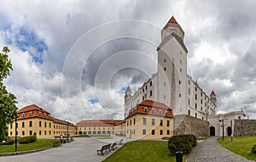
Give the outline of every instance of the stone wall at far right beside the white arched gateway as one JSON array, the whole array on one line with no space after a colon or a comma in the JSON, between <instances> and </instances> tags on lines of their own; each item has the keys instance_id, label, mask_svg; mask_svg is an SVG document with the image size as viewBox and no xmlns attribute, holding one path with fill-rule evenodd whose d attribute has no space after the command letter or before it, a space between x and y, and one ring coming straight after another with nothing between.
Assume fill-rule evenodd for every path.
<instances>
[{"instance_id":1,"label":"stone wall at far right beside the white arched gateway","mask_svg":"<svg viewBox=\"0 0 256 162\"><path fill-rule=\"evenodd\" d=\"M255 136L256 120L235 120L234 136Z\"/></svg>"}]
</instances>

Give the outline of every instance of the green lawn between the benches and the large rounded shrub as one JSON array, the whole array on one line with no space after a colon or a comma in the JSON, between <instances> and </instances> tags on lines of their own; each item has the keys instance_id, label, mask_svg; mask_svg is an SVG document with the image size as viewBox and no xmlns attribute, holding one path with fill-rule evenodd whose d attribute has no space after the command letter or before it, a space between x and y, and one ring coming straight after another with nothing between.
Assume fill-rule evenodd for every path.
<instances>
[{"instance_id":1,"label":"green lawn between the benches and the large rounded shrub","mask_svg":"<svg viewBox=\"0 0 256 162\"><path fill-rule=\"evenodd\" d=\"M103 162L126 161L175 161L169 153L166 141L134 141L127 142ZM183 161L186 156L183 156Z\"/></svg>"}]
</instances>

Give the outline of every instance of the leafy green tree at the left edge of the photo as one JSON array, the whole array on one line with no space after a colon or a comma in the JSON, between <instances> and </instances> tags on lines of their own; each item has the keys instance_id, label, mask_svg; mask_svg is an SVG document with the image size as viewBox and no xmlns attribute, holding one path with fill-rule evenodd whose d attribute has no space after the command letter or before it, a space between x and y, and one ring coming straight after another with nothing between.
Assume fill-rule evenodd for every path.
<instances>
[{"instance_id":1,"label":"leafy green tree at the left edge of the photo","mask_svg":"<svg viewBox=\"0 0 256 162\"><path fill-rule=\"evenodd\" d=\"M13 70L8 58L9 47L3 47L0 53L0 142L8 136L8 124L13 122L17 115L17 103L15 95L8 92L3 85L3 80L9 76L9 71Z\"/></svg>"}]
</instances>

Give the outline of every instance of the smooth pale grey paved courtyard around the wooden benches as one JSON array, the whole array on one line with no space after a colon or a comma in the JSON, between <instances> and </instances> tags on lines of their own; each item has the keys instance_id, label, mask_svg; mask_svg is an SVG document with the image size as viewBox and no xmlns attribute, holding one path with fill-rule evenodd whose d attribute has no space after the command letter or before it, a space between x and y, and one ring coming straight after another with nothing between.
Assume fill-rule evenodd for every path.
<instances>
[{"instance_id":1,"label":"smooth pale grey paved courtyard around the wooden benches","mask_svg":"<svg viewBox=\"0 0 256 162\"><path fill-rule=\"evenodd\" d=\"M0 162L99 162L108 157L106 155L97 155L96 150L102 148L102 145L110 142L116 142L123 137L113 137L113 139L94 139L90 137L75 138L74 142L62 144L59 148L50 148L32 154L22 154L16 156L0 157ZM126 142L126 139L125 139ZM120 148L120 145L118 146Z\"/></svg>"}]
</instances>

